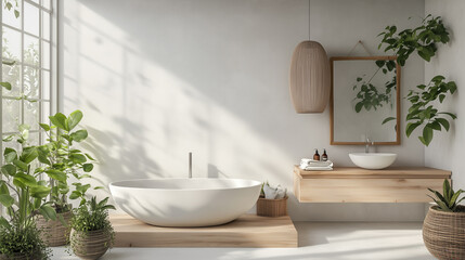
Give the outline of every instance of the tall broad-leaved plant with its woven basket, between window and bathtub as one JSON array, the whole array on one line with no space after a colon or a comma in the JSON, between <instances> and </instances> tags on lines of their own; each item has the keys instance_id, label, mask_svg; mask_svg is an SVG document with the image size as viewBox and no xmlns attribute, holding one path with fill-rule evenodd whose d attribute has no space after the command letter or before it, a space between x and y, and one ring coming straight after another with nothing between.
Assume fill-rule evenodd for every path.
<instances>
[{"instance_id":1,"label":"tall broad-leaved plant with its woven basket, between window and bathtub","mask_svg":"<svg viewBox=\"0 0 465 260\"><path fill-rule=\"evenodd\" d=\"M69 237L72 219L72 206L68 203L69 178L74 177L79 181L90 177L88 172L93 169L94 159L74 145L88 136L86 129L76 130L82 119L80 110L73 112L68 117L57 113L49 118L51 125L40 123L48 139L46 144L38 146L38 160L43 167L38 168L37 172L50 178L49 202L55 209L57 219L38 217L37 225L43 230L42 237L49 246L63 246Z\"/></svg>"}]
</instances>

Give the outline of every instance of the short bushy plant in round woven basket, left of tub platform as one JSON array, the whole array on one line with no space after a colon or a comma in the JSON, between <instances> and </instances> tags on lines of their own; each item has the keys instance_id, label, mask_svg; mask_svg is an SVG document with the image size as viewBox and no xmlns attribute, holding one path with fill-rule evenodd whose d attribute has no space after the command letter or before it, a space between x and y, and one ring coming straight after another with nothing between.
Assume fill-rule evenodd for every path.
<instances>
[{"instance_id":1,"label":"short bushy plant in round woven basket, left of tub platform","mask_svg":"<svg viewBox=\"0 0 465 260\"><path fill-rule=\"evenodd\" d=\"M87 190L87 188L85 188ZM108 197L96 202L96 197L86 200L86 191L81 193L81 204L74 209L69 236L73 252L81 259L99 259L112 247L115 238L108 210Z\"/></svg>"}]
</instances>

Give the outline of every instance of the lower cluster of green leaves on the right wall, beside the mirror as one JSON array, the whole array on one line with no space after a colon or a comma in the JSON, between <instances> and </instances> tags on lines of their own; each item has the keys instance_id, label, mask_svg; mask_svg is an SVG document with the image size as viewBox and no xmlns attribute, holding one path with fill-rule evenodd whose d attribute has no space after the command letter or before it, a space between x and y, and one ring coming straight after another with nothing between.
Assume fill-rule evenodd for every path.
<instances>
[{"instance_id":1,"label":"lower cluster of green leaves on the right wall, beside the mirror","mask_svg":"<svg viewBox=\"0 0 465 260\"><path fill-rule=\"evenodd\" d=\"M443 76L436 76L431 81L425 86L417 86L417 90L411 90L406 99L411 103L409 114L406 115L406 136L410 136L417 127L423 126L423 134L418 136L419 141L426 146L432 140L434 130L441 131L442 128L449 131L450 122L447 118L440 116L448 116L451 119L456 119L456 115L449 112L439 112L431 103L439 100L442 103L445 94L455 93L457 87L454 81L445 82Z\"/></svg>"}]
</instances>

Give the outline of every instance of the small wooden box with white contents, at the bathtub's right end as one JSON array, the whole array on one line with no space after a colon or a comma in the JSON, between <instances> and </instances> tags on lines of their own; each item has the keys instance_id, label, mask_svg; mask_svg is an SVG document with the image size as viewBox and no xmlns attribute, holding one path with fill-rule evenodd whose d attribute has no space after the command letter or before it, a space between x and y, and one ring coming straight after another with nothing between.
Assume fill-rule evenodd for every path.
<instances>
[{"instance_id":1,"label":"small wooden box with white contents, at the bathtub's right end","mask_svg":"<svg viewBox=\"0 0 465 260\"><path fill-rule=\"evenodd\" d=\"M281 217L287 214L287 188L263 183L257 200L257 214L263 217Z\"/></svg>"}]
</instances>

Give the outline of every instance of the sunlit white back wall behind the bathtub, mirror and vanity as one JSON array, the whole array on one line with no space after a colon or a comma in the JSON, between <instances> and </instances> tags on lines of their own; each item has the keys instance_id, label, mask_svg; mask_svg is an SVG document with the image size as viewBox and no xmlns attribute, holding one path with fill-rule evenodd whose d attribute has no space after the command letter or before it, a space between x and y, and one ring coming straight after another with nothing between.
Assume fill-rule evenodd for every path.
<instances>
[{"instance_id":1,"label":"sunlit white back wall behind the bathtub, mirror and vanity","mask_svg":"<svg viewBox=\"0 0 465 260\"><path fill-rule=\"evenodd\" d=\"M308 39L306 0L68 0L61 2L63 109L83 110L101 183L137 178L269 180L292 191L293 165L326 147L351 166L361 146L330 146L330 115L299 115L288 94L294 48ZM373 54L385 26L417 24L423 0L312 0L311 38L328 55L358 40ZM413 20L408 20L413 16ZM416 18L418 17L418 18ZM358 48L354 55L365 55ZM423 81L404 67L402 92ZM403 103L403 107L404 103ZM404 112L404 109L403 109ZM405 113L403 113L405 114ZM404 115L403 115L404 117ZM424 165L419 142L378 147ZM295 220L423 220L419 204L298 204Z\"/></svg>"}]
</instances>

